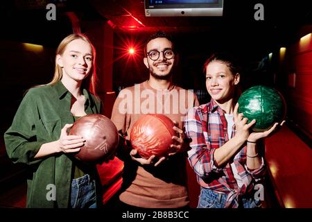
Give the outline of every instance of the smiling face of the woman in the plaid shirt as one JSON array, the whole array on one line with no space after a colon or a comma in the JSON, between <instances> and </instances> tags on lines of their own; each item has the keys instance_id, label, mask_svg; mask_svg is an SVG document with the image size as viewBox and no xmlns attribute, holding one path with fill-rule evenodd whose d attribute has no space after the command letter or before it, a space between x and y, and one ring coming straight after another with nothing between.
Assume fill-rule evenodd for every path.
<instances>
[{"instance_id":1,"label":"smiling face of the woman in the plaid shirt","mask_svg":"<svg viewBox=\"0 0 312 222\"><path fill-rule=\"evenodd\" d=\"M206 87L211 99L217 103L225 103L232 99L239 78L239 74L232 74L225 62L211 61L206 69Z\"/></svg>"}]
</instances>

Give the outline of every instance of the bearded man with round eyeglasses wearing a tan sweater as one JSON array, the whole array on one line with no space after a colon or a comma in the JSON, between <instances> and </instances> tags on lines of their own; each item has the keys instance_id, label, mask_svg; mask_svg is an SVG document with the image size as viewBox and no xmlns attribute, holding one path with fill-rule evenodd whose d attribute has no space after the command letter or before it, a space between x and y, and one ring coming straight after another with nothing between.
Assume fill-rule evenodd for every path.
<instances>
[{"instance_id":1,"label":"bearded man with round eyeglasses wearing a tan sweater","mask_svg":"<svg viewBox=\"0 0 312 222\"><path fill-rule=\"evenodd\" d=\"M172 82L177 62L171 37L163 32L152 35L144 49L144 65L148 80L121 90L112 110L112 121L121 133L117 156L123 160L123 184L118 210L140 208L184 208L189 205L187 192L187 148L183 121L187 111L198 105L193 92ZM138 96L139 95L139 96ZM172 153L168 158L148 160L138 156L130 146L133 124L142 114L165 114L175 122L179 137L173 137ZM125 145L127 144L127 145Z\"/></svg>"}]
</instances>

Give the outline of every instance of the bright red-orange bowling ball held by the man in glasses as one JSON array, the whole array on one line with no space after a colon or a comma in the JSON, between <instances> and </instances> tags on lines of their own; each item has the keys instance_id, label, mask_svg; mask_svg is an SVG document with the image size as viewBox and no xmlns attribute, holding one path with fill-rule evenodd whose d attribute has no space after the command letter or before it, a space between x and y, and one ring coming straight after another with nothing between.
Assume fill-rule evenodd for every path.
<instances>
[{"instance_id":1,"label":"bright red-orange bowling ball held by the man in glasses","mask_svg":"<svg viewBox=\"0 0 312 222\"><path fill-rule=\"evenodd\" d=\"M132 126L130 142L144 159L151 155L166 157L173 144L175 124L164 114L145 114Z\"/></svg>"}]
</instances>

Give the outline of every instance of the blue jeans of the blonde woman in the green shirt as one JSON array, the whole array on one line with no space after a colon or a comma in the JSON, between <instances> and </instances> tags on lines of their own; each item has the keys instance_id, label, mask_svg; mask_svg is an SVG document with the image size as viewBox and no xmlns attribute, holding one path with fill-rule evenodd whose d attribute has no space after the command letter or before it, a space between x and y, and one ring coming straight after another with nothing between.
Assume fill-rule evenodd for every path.
<instances>
[{"instance_id":1,"label":"blue jeans of the blonde woman in the green shirt","mask_svg":"<svg viewBox=\"0 0 312 222\"><path fill-rule=\"evenodd\" d=\"M96 182L89 174L71 180L71 207L96 208Z\"/></svg>"}]
</instances>

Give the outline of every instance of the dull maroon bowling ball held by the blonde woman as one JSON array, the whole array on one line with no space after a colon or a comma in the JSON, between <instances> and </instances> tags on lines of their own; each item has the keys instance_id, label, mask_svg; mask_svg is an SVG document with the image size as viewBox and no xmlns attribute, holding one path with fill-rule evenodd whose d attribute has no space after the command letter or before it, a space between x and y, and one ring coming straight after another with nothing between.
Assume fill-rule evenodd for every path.
<instances>
[{"instance_id":1,"label":"dull maroon bowling ball held by the blonde woman","mask_svg":"<svg viewBox=\"0 0 312 222\"><path fill-rule=\"evenodd\" d=\"M80 135L86 142L74 156L83 162L108 160L119 143L116 126L101 114L87 114L73 123L69 135Z\"/></svg>"}]
</instances>

